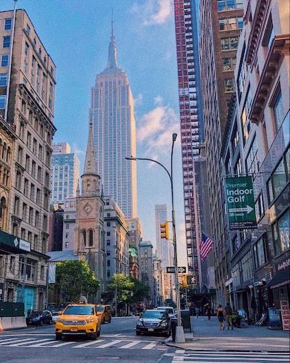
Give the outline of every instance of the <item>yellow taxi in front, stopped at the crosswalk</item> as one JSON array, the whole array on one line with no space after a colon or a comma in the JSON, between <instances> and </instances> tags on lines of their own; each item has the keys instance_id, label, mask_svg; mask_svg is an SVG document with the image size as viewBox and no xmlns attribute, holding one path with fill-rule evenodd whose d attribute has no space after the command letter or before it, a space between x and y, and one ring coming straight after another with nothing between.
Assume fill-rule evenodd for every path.
<instances>
[{"instance_id":1,"label":"yellow taxi in front, stopped at the crosswalk","mask_svg":"<svg viewBox=\"0 0 290 363\"><path fill-rule=\"evenodd\" d=\"M101 318L94 304L69 304L56 321L56 340L63 336L84 335L96 340L101 333Z\"/></svg>"}]
</instances>

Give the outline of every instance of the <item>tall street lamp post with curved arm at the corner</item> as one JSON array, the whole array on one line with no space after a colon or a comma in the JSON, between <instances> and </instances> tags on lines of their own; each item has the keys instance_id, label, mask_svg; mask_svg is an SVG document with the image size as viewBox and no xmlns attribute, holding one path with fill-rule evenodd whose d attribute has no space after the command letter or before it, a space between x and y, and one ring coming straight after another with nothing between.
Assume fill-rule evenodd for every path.
<instances>
[{"instance_id":1,"label":"tall street lamp post with curved arm at the corner","mask_svg":"<svg viewBox=\"0 0 290 363\"><path fill-rule=\"evenodd\" d=\"M184 343L184 330L181 325L181 314L180 314L180 290L178 285L178 259L177 259L177 247L176 247L176 214L174 210L174 193L173 193L173 147L174 142L176 141L177 133L173 133L172 135L172 146L171 146L171 173L162 165L160 162L157 162L154 159L149 159L147 157L125 157L127 160L147 160L149 162L154 162L160 165L167 173L170 179L171 184L171 210L172 210L172 232L173 232L173 249L174 249L174 269L175 269L175 280L176 280L176 309L177 309L177 320L178 325L176 327L176 342Z\"/></svg>"}]
</instances>

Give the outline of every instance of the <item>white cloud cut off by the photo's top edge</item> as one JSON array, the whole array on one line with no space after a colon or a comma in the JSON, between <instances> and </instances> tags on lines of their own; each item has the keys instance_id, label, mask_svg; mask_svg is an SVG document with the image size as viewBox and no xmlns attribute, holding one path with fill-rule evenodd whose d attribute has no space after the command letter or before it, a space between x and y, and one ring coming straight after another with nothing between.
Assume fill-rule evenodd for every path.
<instances>
[{"instance_id":1,"label":"white cloud cut off by the photo's top edge","mask_svg":"<svg viewBox=\"0 0 290 363\"><path fill-rule=\"evenodd\" d=\"M142 17L144 25L165 23L171 11L171 0L141 0L134 3L132 7L132 12Z\"/></svg>"}]
</instances>

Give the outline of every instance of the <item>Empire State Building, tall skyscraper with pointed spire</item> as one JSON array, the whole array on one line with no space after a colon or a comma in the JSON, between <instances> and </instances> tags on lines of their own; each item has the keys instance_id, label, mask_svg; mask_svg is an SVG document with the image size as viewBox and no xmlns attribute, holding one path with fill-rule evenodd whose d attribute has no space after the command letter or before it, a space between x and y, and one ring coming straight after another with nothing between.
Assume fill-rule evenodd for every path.
<instances>
[{"instance_id":1,"label":"Empire State Building, tall skyscraper with pointed spire","mask_svg":"<svg viewBox=\"0 0 290 363\"><path fill-rule=\"evenodd\" d=\"M106 69L97 75L91 88L90 117L104 195L117 201L126 218L135 218L136 163L125 159L136 156L134 99L128 76L118 65L113 23Z\"/></svg>"}]
</instances>

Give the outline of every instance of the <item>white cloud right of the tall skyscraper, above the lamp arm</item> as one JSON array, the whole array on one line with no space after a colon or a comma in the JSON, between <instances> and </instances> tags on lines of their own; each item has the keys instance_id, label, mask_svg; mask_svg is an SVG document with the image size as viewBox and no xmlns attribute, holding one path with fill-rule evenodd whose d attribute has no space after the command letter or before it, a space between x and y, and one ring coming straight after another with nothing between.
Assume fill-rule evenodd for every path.
<instances>
[{"instance_id":1,"label":"white cloud right of the tall skyscraper, above the lamp arm","mask_svg":"<svg viewBox=\"0 0 290 363\"><path fill-rule=\"evenodd\" d=\"M154 102L156 107L138 120L137 138L147 148L147 155L158 158L170 150L172 134L178 133L180 125L178 115L171 107L164 106L160 96Z\"/></svg>"}]
</instances>

